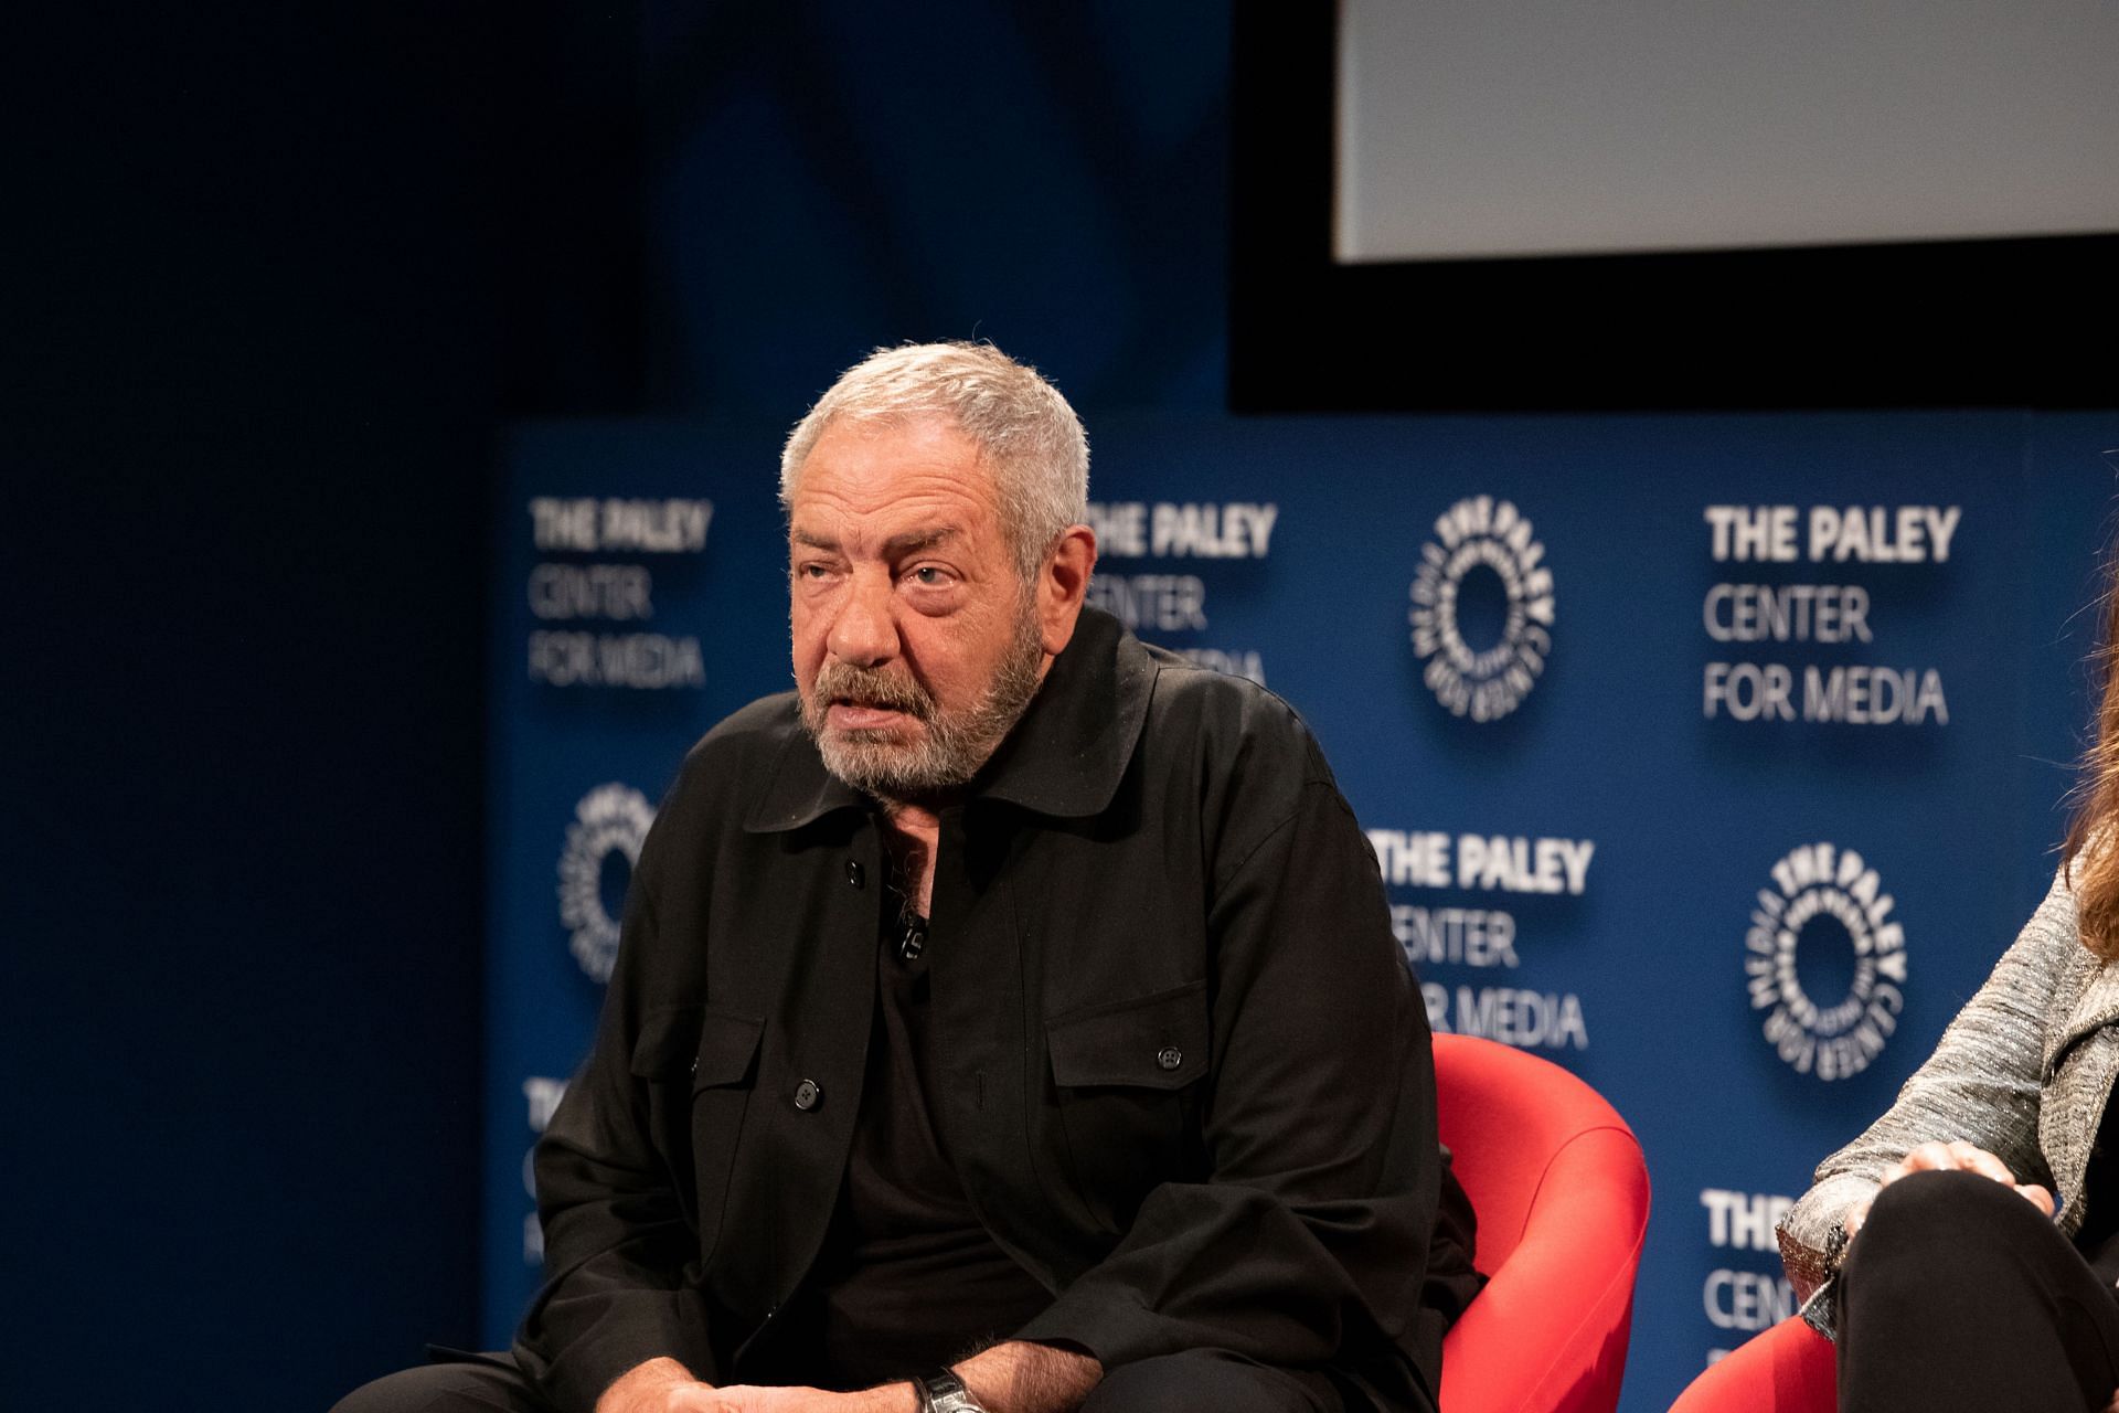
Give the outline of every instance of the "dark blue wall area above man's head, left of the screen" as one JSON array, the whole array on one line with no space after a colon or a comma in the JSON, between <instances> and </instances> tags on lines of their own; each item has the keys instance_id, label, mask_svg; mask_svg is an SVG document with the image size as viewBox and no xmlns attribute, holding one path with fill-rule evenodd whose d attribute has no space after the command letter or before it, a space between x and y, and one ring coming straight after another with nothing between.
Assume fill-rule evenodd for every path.
<instances>
[{"instance_id":1,"label":"dark blue wall area above man's head, left of the screen","mask_svg":"<svg viewBox=\"0 0 2119 1413\"><path fill-rule=\"evenodd\" d=\"M648 381L793 422L905 339L1221 409L1225 4L644 0Z\"/></svg>"}]
</instances>

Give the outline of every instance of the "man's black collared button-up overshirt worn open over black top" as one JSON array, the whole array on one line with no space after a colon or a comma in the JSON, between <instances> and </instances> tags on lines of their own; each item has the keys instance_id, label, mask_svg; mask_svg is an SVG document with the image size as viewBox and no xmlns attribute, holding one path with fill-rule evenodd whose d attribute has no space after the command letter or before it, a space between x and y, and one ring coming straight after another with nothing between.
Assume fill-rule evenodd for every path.
<instances>
[{"instance_id":1,"label":"man's black collared button-up overshirt worn open over black top","mask_svg":"<svg viewBox=\"0 0 2119 1413\"><path fill-rule=\"evenodd\" d=\"M536 1159L517 1352L557 1407L655 1356L720 1381L793 1318L873 1083L884 869L793 695L687 756ZM1432 1407L1468 1282L1432 1280L1462 1275L1462 1197L1426 1010L1286 703L1083 610L941 816L932 915L937 1146L1051 1292L1013 1337L1106 1366L1221 1347Z\"/></svg>"}]
</instances>

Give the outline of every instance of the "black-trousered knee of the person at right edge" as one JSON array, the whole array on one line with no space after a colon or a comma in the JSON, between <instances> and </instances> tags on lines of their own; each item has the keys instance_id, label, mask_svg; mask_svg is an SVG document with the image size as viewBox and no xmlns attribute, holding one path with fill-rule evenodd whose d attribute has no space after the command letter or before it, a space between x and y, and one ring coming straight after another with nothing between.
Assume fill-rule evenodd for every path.
<instances>
[{"instance_id":1,"label":"black-trousered knee of the person at right edge","mask_svg":"<svg viewBox=\"0 0 2119 1413\"><path fill-rule=\"evenodd\" d=\"M2102 1411L2119 1296L2043 1212L1977 1174L1875 1199L1839 1275L1839 1407Z\"/></svg>"}]
</instances>

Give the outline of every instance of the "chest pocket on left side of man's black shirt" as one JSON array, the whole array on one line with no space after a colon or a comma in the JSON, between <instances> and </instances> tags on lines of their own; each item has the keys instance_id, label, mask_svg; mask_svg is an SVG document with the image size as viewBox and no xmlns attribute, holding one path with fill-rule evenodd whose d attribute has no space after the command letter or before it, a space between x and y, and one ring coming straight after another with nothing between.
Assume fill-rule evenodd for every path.
<instances>
[{"instance_id":1,"label":"chest pocket on left side of man's black shirt","mask_svg":"<svg viewBox=\"0 0 2119 1413\"><path fill-rule=\"evenodd\" d=\"M729 1171L756 1078L765 1021L714 1006L651 1010L634 1042L631 1070L646 1080L648 1131L687 1197L699 1258L712 1254L729 1199Z\"/></svg>"}]
</instances>

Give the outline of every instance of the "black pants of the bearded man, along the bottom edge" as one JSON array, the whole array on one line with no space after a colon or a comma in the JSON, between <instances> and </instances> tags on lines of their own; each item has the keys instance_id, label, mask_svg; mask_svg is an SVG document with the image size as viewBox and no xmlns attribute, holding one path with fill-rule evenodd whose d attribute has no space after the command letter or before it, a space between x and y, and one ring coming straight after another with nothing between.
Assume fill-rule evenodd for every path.
<instances>
[{"instance_id":1,"label":"black pants of the bearded man, along the bottom edge","mask_svg":"<svg viewBox=\"0 0 2119 1413\"><path fill-rule=\"evenodd\" d=\"M1307 1371L1191 1349L1115 1369L1083 1413L1358 1413L1369 1402ZM348 1394L333 1413L551 1413L504 1354L407 1369Z\"/></svg>"}]
</instances>

